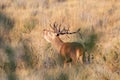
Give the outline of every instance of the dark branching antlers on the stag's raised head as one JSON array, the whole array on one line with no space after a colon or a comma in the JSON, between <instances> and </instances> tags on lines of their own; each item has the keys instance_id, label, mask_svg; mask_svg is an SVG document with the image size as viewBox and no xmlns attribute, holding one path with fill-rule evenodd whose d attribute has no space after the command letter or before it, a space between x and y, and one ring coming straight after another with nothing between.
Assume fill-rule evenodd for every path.
<instances>
[{"instance_id":1,"label":"dark branching antlers on the stag's raised head","mask_svg":"<svg viewBox=\"0 0 120 80\"><path fill-rule=\"evenodd\" d=\"M75 31L75 32L69 32L69 27L68 28L63 28L62 30L61 28L61 24L57 24L56 22L53 23L53 25L50 24L50 27L53 29L53 31L55 33L57 33L57 36L59 35L64 35L64 34L74 34L74 33L78 33L80 31L80 28Z\"/></svg>"}]
</instances>

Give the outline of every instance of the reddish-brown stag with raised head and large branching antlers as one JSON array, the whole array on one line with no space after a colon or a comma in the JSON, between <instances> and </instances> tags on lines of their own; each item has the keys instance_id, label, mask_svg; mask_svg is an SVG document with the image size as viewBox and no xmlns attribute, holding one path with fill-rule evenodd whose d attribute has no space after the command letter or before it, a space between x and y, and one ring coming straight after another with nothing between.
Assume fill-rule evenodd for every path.
<instances>
[{"instance_id":1,"label":"reddish-brown stag with raised head and large branching antlers","mask_svg":"<svg viewBox=\"0 0 120 80\"><path fill-rule=\"evenodd\" d=\"M80 61L81 64L83 64L83 54L85 51L83 45L77 42L63 42L59 37L64 34L78 33L80 29L76 32L69 32L69 28L60 29L61 24L58 25L56 23L53 25L50 24L50 27L52 28L52 31L44 29L44 38L56 48L60 55L62 55L64 58L64 66L68 62L76 64Z\"/></svg>"}]
</instances>

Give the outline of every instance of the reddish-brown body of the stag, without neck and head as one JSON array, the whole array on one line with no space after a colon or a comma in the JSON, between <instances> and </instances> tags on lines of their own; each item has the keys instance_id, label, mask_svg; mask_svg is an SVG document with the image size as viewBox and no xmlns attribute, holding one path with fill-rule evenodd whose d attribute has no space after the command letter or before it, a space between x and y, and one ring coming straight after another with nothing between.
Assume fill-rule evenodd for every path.
<instances>
[{"instance_id":1,"label":"reddish-brown body of the stag, without neck and head","mask_svg":"<svg viewBox=\"0 0 120 80\"><path fill-rule=\"evenodd\" d=\"M79 60L83 63L83 53L83 46L77 42L64 43L60 49L60 54L64 57L65 62L69 62L68 60L71 59L74 64Z\"/></svg>"}]
</instances>

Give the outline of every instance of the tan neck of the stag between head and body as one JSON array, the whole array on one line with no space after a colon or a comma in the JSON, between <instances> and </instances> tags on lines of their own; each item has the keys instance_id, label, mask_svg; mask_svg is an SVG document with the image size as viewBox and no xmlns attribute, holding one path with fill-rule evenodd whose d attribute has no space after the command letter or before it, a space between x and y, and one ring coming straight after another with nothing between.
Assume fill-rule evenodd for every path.
<instances>
[{"instance_id":1,"label":"tan neck of the stag between head and body","mask_svg":"<svg viewBox=\"0 0 120 80\"><path fill-rule=\"evenodd\" d=\"M58 52L60 52L61 46L63 45L63 41L57 36L54 41L52 42L52 45L56 48Z\"/></svg>"}]
</instances>

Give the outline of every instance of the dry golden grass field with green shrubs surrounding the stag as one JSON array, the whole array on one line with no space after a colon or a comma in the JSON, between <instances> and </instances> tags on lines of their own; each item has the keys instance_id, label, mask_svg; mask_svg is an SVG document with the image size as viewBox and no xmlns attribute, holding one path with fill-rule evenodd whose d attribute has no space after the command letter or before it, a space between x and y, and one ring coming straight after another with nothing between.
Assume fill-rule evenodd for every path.
<instances>
[{"instance_id":1,"label":"dry golden grass field with green shrubs surrounding the stag","mask_svg":"<svg viewBox=\"0 0 120 80\"><path fill-rule=\"evenodd\" d=\"M43 38L55 21L81 28L60 37L85 44L89 64L63 68ZM120 80L120 0L0 0L0 80Z\"/></svg>"}]
</instances>

